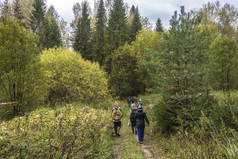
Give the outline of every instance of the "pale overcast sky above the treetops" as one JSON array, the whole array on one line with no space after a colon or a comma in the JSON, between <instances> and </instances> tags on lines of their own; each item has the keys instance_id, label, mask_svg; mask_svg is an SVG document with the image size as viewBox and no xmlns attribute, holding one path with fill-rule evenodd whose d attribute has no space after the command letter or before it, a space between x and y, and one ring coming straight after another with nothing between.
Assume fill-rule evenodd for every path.
<instances>
[{"instance_id":1,"label":"pale overcast sky above the treetops","mask_svg":"<svg viewBox=\"0 0 238 159\"><path fill-rule=\"evenodd\" d=\"M83 0L47 0L47 6L53 5L59 15L68 23L71 23L74 15L72 11L73 4L76 2L81 3ZM91 8L95 0L88 0ZM124 0L128 3L129 7L132 4L138 6L140 15L148 17L149 21L153 24L156 23L158 18L161 19L165 28L169 28L169 20L171 19L174 11L180 12L180 6L185 6L185 11L191 9L199 9L207 2L214 2L216 0ZM229 3L238 8L238 0L220 0L221 4Z\"/></svg>"}]
</instances>

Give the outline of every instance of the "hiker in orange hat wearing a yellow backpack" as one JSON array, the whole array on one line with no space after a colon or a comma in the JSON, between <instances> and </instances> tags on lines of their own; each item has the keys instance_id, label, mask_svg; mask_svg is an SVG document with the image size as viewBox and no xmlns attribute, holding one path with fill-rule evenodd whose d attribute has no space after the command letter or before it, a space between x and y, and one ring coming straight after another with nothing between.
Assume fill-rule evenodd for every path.
<instances>
[{"instance_id":1,"label":"hiker in orange hat wearing a yellow backpack","mask_svg":"<svg viewBox=\"0 0 238 159\"><path fill-rule=\"evenodd\" d=\"M112 115L112 121L114 124L115 134L116 136L120 136L119 131L121 128L121 118L123 116L123 111L121 107L118 106L117 102L114 103L114 108L112 108L111 115Z\"/></svg>"}]
</instances>

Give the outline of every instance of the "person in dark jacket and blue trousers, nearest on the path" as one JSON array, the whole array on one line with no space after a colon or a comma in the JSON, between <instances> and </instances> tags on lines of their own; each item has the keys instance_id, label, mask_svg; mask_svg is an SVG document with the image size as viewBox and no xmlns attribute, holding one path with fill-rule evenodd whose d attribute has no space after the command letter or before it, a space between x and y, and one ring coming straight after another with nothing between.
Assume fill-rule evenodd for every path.
<instances>
[{"instance_id":1,"label":"person in dark jacket and blue trousers, nearest on the path","mask_svg":"<svg viewBox=\"0 0 238 159\"><path fill-rule=\"evenodd\" d=\"M136 117L136 128L138 131L138 139L140 144L142 144L144 139L145 121L147 122L148 125L150 124L147 119L146 113L143 112L142 106L139 106L137 108L137 113L135 117Z\"/></svg>"}]
</instances>

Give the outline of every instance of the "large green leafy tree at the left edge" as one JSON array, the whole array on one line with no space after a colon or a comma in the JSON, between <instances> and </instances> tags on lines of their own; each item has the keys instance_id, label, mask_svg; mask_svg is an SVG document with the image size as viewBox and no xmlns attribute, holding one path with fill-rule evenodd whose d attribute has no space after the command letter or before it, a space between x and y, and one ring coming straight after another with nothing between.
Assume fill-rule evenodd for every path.
<instances>
[{"instance_id":1,"label":"large green leafy tree at the left edge","mask_svg":"<svg viewBox=\"0 0 238 159\"><path fill-rule=\"evenodd\" d=\"M22 107L39 105L45 99L37 42L37 37L17 20L0 23L0 100L16 103L14 115Z\"/></svg>"}]
</instances>

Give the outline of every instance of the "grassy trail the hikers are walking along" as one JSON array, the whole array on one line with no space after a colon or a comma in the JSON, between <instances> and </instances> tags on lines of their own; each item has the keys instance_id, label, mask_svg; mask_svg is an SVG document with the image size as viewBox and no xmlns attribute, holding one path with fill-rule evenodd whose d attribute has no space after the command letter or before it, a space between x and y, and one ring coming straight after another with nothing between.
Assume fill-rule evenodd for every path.
<instances>
[{"instance_id":1,"label":"grassy trail the hikers are walking along","mask_svg":"<svg viewBox=\"0 0 238 159\"><path fill-rule=\"evenodd\" d=\"M130 117L130 108L122 106L124 117L122 119L122 127L119 137L114 137L116 140L116 154L117 159L154 159L153 154L146 145L146 138L144 144L138 143L138 136L132 134L131 127L128 127L128 120Z\"/></svg>"}]
</instances>

